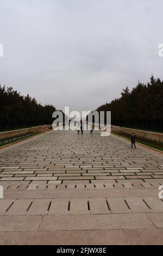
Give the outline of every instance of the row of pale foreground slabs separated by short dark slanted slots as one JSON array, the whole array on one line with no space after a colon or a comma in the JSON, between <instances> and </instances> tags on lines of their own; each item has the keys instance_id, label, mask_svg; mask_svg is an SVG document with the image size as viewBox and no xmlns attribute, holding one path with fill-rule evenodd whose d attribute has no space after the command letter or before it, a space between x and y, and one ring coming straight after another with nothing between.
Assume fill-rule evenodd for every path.
<instances>
[{"instance_id":1,"label":"row of pale foreground slabs separated by short dark slanted slots","mask_svg":"<svg viewBox=\"0 0 163 256\"><path fill-rule=\"evenodd\" d=\"M163 212L158 197L44 198L0 200L0 215L96 215Z\"/></svg>"}]
</instances>

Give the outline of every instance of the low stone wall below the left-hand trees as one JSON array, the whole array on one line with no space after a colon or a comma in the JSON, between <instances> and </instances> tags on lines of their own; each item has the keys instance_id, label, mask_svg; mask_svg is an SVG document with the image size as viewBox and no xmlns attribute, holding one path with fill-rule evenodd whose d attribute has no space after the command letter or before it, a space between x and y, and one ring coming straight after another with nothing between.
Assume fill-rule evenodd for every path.
<instances>
[{"instance_id":1,"label":"low stone wall below the left-hand trees","mask_svg":"<svg viewBox=\"0 0 163 256\"><path fill-rule=\"evenodd\" d=\"M49 131L49 129L52 129L52 125L42 125L42 126L36 126L32 128L27 128L27 129L0 132L0 141L5 141L7 139L11 139L14 137L21 137L23 135L28 135L33 132L40 132L40 133L46 132L46 131Z\"/></svg>"}]
</instances>

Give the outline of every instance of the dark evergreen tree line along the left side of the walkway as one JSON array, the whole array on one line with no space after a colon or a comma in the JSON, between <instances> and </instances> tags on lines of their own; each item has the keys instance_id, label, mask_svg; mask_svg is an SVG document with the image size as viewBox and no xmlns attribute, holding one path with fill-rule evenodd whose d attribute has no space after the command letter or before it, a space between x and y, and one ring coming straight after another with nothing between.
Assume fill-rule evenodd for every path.
<instances>
[{"instance_id":1,"label":"dark evergreen tree line along the left side of the walkway","mask_svg":"<svg viewBox=\"0 0 163 256\"><path fill-rule=\"evenodd\" d=\"M12 87L0 85L0 130L52 124L53 105L42 106L34 97L22 96Z\"/></svg>"}]
</instances>

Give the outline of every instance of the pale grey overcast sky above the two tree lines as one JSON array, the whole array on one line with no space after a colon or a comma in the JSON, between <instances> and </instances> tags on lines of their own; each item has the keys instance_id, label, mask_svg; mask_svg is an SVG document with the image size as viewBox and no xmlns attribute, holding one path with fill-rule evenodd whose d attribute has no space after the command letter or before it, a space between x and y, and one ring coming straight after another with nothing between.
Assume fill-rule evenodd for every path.
<instances>
[{"instance_id":1,"label":"pale grey overcast sky above the two tree lines","mask_svg":"<svg viewBox=\"0 0 163 256\"><path fill-rule=\"evenodd\" d=\"M162 0L0 0L0 83L57 109L93 110L163 80Z\"/></svg>"}]
</instances>

